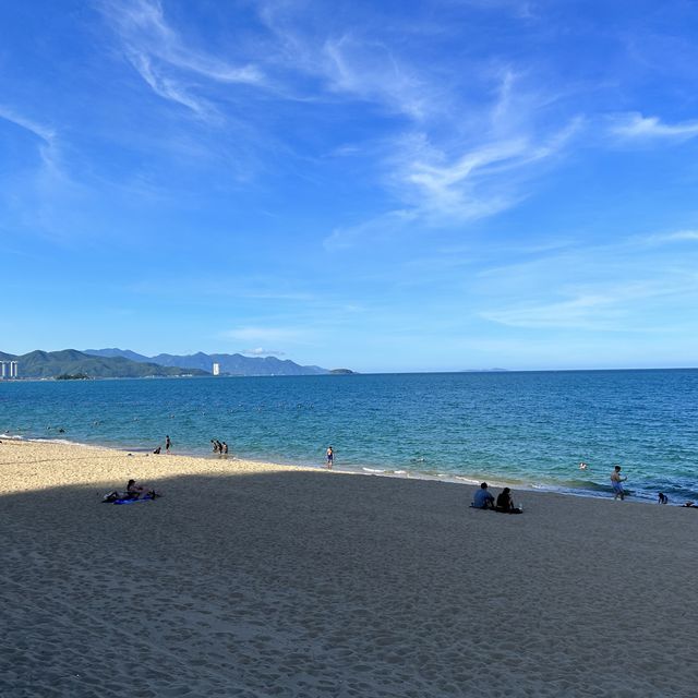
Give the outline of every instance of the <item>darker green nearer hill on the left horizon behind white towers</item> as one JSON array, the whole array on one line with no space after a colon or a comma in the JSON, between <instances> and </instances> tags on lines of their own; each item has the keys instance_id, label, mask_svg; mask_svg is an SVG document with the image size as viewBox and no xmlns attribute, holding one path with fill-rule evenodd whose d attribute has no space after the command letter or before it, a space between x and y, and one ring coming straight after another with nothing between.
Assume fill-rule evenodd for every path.
<instances>
[{"instance_id":1,"label":"darker green nearer hill on the left horizon behind white towers","mask_svg":"<svg viewBox=\"0 0 698 698\"><path fill-rule=\"evenodd\" d=\"M2 361L17 361L20 377L51 378L59 375L85 375L91 378L143 378L151 376L207 375L205 371L166 368L156 363L131 361L124 357L94 357L76 349L31 351L22 356L0 352Z\"/></svg>"}]
</instances>

